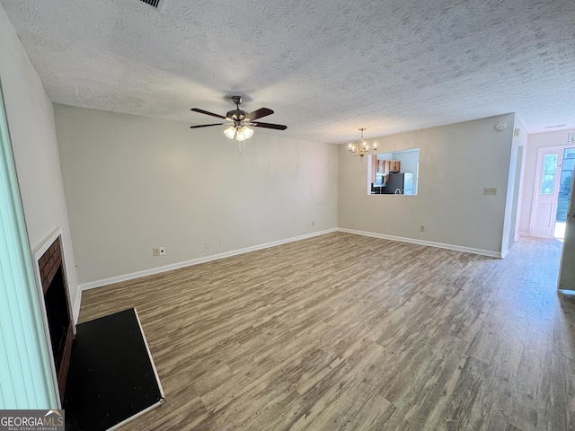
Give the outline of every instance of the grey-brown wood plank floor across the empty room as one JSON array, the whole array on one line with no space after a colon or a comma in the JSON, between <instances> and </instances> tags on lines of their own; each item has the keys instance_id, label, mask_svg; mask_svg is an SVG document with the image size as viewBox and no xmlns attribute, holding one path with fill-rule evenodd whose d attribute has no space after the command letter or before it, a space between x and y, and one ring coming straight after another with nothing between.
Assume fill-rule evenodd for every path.
<instances>
[{"instance_id":1,"label":"grey-brown wood plank floor across the empty room","mask_svg":"<svg viewBox=\"0 0 575 431\"><path fill-rule=\"evenodd\" d=\"M123 430L573 430L560 253L331 233L86 291L80 318L142 321L166 402Z\"/></svg>"}]
</instances>

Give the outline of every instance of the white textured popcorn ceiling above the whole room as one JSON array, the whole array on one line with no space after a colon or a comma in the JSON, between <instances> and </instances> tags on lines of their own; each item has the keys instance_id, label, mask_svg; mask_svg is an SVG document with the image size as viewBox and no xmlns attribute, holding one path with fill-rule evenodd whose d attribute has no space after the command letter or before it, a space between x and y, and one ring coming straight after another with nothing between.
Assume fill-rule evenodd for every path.
<instances>
[{"instance_id":1,"label":"white textured popcorn ceiling above the whole room","mask_svg":"<svg viewBox=\"0 0 575 431\"><path fill-rule=\"evenodd\" d=\"M57 103L199 125L239 93L288 126L257 133L329 143L508 112L575 128L573 0L0 3Z\"/></svg>"}]
</instances>

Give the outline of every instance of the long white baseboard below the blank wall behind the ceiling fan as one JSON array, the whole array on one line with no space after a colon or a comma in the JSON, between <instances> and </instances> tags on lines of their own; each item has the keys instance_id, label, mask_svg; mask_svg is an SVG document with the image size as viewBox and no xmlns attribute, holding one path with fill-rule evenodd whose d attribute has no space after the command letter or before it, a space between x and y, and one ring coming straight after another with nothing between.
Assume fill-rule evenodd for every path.
<instances>
[{"instance_id":1,"label":"long white baseboard below the blank wall behind the ceiling fan","mask_svg":"<svg viewBox=\"0 0 575 431\"><path fill-rule=\"evenodd\" d=\"M226 258L229 258L232 256L236 256L238 254L249 253L250 251L269 249L270 247L275 247L276 245L286 244L288 242L301 241L301 240L305 240L307 238L313 238L314 236L321 236L321 235L325 235L326 233L334 233L334 232L338 232L338 229L333 228L333 229L327 229L325 231L320 231L320 232L306 233L305 235L294 236L292 238L287 238L285 240L266 242L264 244L254 245L252 247L246 247L244 249L239 249L239 250L234 250L234 251L226 251L225 253L213 254L211 256L206 256L204 258L186 260L183 262L173 263L171 265L165 265L163 267L144 269L142 271L132 272L130 274L125 274L123 276L104 278L102 280L91 281L89 283L83 283L81 285L78 285L78 287L79 287L80 292L82 292L84 290L93 289L95 287L102 287L102 286L111 285L113 283L119 283L120 281L128 281L128 280L133 280L133 279L139 278L139 277L152 276L154 274L159 274L161 272L171 271L173 269L190 267L192 265L199 265L200 263L205 263L205 262L209 262L212 260L226 259ZM78 302L78 312L79 312L80 301L78 300L77 302Z\"/></svg>"}]
</instances>

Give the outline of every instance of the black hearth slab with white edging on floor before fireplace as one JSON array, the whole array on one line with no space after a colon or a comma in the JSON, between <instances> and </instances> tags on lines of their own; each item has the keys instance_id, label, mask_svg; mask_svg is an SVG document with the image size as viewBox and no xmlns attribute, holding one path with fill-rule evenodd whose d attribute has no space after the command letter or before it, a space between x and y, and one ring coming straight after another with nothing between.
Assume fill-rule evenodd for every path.
<instances>
[{"instance_id":1,"label":"black hearth slab with white edging on floor before fireplace","mask_svg":"<svg viewBox=\"0 0 575 431\"><path fill-rule=\"evenodd\" d=\"M62 406L66 430L117 427L163 401L135 309L76 326Z\"/></svg>"}]
</instances>

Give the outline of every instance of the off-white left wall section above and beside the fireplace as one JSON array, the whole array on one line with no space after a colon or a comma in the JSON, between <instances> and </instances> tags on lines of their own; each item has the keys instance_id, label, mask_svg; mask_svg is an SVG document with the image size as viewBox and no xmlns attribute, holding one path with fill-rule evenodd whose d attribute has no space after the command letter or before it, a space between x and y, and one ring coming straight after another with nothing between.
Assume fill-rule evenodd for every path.
<instances>
[{"instance_id":1,"label":"off-white left wall section above and beside the fireplace","mask_svg":"<svg viewBox=\"0 0 575 431\"><path fill-rule=\"evenodd\" d=\"M75 318L80 306L52 103L0 5L0 79L31 251L62 230Z\"/></svg>"}]
</instances>

